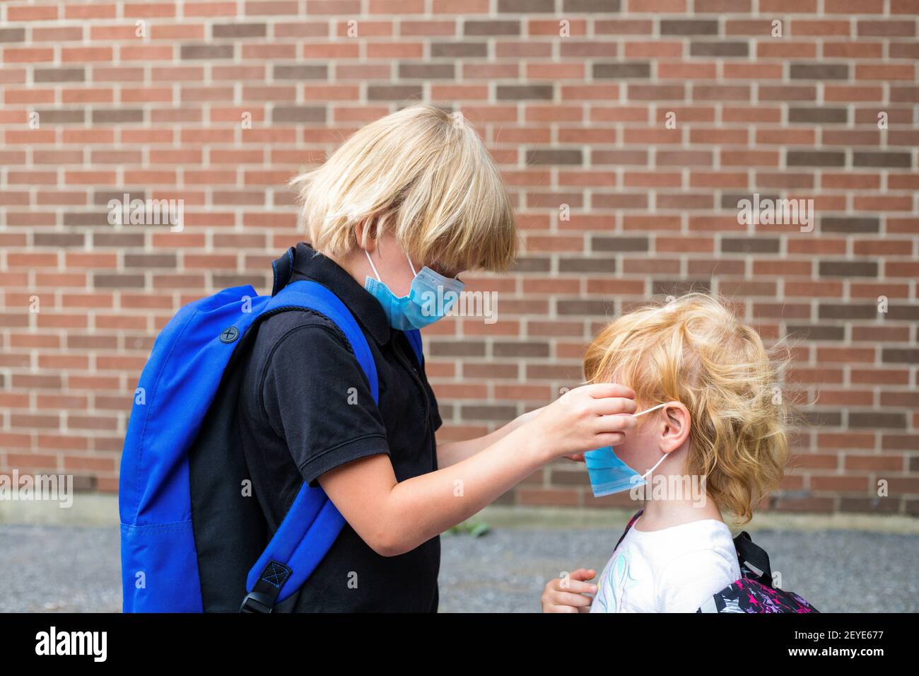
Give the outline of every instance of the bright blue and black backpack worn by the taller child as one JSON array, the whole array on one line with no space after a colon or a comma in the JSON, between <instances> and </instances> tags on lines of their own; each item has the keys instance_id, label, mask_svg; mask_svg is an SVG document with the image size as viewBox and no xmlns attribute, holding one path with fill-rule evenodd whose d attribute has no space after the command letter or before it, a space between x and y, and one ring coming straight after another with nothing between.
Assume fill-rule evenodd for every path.
<instances>
[{"instance_id":1,"label":"bright blue and black backpack worn by the taller child","mask_svg":"<svg viewBox=\"0 0 919 676\"><path fill-rule=\"evenodd\" d=\"M235 427L258 324L287 310L319 313L342 331L379 404L357 321L322 285L289 283L293 251L274 262L270 296L239 286L187 304L153 344L121 454L125 613L270 613L310 577L345 524L323 489L304 483L269 539ZM420 334L405 335L422 363Z\"/></svg>"}]
</instances>

